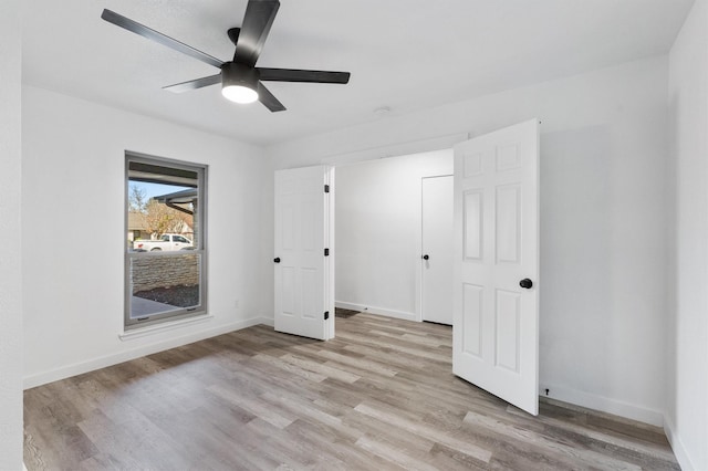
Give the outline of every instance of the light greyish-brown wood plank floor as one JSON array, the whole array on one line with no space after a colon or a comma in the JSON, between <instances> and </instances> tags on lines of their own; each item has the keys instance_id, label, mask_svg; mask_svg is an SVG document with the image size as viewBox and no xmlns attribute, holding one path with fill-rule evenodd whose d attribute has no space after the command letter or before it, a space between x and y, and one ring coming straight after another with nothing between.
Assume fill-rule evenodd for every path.
<instances>
[{"instance_id":1,"label":"light greyish-brown wood plank floor","mask_svg":"<svg viewBox=\"0 0 708 471\"><path fill-rule=\"evenodd\" d=\"M254 326L24 393L29 470L671 470L662 430L452 376L451 329Z\"/></svg>"}]
</instances>

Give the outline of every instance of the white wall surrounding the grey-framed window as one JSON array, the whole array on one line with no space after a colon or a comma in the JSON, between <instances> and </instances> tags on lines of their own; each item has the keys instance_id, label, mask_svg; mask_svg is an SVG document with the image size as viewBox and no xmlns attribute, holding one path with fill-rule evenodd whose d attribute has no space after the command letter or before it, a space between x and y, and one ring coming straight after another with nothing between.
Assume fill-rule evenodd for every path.
<instances>
[{"instance_id":1,"label":"white wall surrounding the grey-framed window","mask_svg":"<svg viewBox=\"0 0 708 471\"><path fill-rule=\"evenodd\" d=\"M31 86L22 101L25 386L260 322L262 149ZM122 341L126 149L209 166L214 317Z\"/></svg>"}]
</instances>

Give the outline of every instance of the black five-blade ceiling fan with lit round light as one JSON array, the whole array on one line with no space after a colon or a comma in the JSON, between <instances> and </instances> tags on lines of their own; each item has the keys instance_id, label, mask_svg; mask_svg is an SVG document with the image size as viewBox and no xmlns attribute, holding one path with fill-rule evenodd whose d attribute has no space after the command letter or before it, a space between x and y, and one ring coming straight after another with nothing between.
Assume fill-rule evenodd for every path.
<instances>
[{"instance_id":1,"label":"black five-blade ceiling fan with lit round light","mask_svg":"<svg viewBox=\"0 0 708 471\"><path fill-rule=\"evenodd\" d=\"M282 112L285 107L266 88L263 81L345 84L350 81L351 74L348 72L257 67L256 62L263 49L279 8L280 1L278 0L249 0L241 28L231 28L228 31L229 39L236 45L236 52L233 60L227 62L114 11L103 10L101 18L221 70L216 75L165 86L163 87L164 90L183 93L221 83L222 95L232 102L252 103L259 100L271 112Z\"/></svg>"}]
</instances>

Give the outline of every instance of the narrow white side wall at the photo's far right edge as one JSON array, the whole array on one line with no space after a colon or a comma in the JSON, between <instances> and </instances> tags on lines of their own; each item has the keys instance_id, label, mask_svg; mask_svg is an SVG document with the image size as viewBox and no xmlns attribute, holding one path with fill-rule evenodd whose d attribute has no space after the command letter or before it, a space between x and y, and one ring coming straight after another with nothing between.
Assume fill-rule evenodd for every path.
<instances>
[{"instance_id":1,"label":"narrow white side wall at the photo's far right edge","mask_svg":"<svg viewBox=\"0 0 708 471\"><path fill-rule=\"evenodd\" d=\"M686 470L708 470L708 3L697 1L669 56L669 305L667 429Z\"/></svg>"}]
</instances>

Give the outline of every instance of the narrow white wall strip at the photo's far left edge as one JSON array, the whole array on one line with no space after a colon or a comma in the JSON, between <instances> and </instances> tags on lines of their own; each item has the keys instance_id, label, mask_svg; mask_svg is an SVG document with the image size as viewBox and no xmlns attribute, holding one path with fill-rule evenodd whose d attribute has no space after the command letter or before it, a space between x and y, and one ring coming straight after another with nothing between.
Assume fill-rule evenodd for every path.
<instances>
[{"instance_id":1,"label":"narrow white wall strip at the photo's far left edge","mask_svg":"<svg viewBox=\"0 0 708 471\"><path fill-rule=\"evenodd\" d=\"M22 469L21 3L0 3L0 470Z\"/></svg>"}]
</instances>

